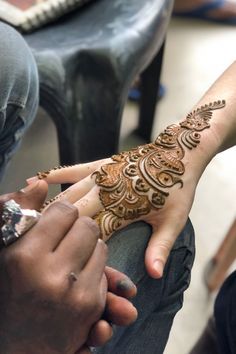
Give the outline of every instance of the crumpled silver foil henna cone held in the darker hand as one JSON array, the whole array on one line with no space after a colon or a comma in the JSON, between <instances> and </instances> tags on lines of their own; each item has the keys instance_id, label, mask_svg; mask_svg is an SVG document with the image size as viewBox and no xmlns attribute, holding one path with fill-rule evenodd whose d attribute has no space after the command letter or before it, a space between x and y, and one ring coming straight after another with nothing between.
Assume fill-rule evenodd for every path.
<instances>
[{"instance_id":1,"label":"crumpled silver foil henna cone held in the darker hand","mask_svg":"<svg viewBox=\"0 0 236 354\"><path fill-rule=\"evenodd\" d=\"M2 220L4 224L1 228L2 241L5 246L15 242L24 235L36 222L41 214L36 210L21 209L13 199L3 204Z\"/></svg>"}]
</instances>

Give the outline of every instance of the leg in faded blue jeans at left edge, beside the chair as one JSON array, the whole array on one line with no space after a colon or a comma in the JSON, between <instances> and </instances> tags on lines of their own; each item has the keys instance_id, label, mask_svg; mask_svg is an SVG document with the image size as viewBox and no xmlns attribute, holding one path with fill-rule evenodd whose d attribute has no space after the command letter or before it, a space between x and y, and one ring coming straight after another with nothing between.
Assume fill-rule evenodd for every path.
<instances>
[{"instance_id":1,"label":"leg in faded blue jeans at left edge, beside the chair","mask_svg":"<svg viewBox=\"0 0 236 354\"><path fill-rule=\"evenodd\" d=\"M33 121L38 107L38 74L22 36L0 22L0 179Z\"/></svg>"}]
</instances>

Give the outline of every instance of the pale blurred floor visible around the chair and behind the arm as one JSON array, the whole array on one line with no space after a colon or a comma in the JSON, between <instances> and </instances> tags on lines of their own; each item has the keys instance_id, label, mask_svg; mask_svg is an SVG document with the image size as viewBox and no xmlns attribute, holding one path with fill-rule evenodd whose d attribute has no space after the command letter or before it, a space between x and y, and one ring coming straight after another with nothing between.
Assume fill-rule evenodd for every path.
<instances>
[{"instance_id":1,"label":"pale blurred floor visible around the chair and behind the arm","mask_svg":"<svg viewBox=\"0 0 236 354\"><path fill-rule=\"evenodd\" d=\"M167 92L158 105L153 137L167 124L183 118L217 76L235 60L235 40L236 27L172 20L162 75ZM127 133L135 126L136 116L135 105L127 105L121 148L139 143ZM15 190L36 171L57 164L55 129L40 111L14 158L1 192ZM197 239L192 282L185 295L184 308L176 316L165 354L187 354L211 312L214 296L208 296L202 274L207 260L236 216L235 175L236 148L233 148L212 161L199 183L191 211Z\"/></svg>"}]
</instances>

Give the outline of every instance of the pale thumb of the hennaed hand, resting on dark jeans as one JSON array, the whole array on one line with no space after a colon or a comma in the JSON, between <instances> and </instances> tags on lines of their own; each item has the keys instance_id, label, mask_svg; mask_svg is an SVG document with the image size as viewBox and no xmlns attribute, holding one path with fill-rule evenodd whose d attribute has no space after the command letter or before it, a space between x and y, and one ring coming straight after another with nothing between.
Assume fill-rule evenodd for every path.
<instances>
[{"instance_id":1,"label":"pale thumb of the hennaed hand, resting on dark jeans","mask_svg":"<svg viewBox=\"0 0 236 354\"><path fill-rule=\"evenodd\" d=\"M146 269L152 278L158 279L163 275L170 251L184 226L182 222L178 224L175 220L165 220L163 225L153 230L145 254Z\"/></svg>"}]
</instances>

